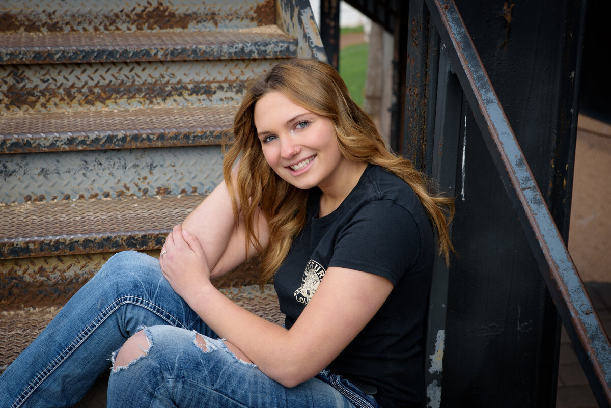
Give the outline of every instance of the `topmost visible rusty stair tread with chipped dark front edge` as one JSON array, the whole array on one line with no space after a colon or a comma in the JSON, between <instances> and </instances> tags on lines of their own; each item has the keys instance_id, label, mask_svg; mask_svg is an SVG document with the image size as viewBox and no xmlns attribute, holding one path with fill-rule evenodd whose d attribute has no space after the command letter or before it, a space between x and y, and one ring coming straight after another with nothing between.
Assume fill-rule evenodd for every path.
<instances>
[{"instance_id":1,"label":"topmost visible rusty stair tread with chipped dark front edge","mask_svg":"<svg viewBox=\"0 0 611 408\"><path fill-rule=\"evenodd\" d=\"M233 31L0 35L0 64L288 58L297 41L277 26Z\"/></svg>"}]
</instances>

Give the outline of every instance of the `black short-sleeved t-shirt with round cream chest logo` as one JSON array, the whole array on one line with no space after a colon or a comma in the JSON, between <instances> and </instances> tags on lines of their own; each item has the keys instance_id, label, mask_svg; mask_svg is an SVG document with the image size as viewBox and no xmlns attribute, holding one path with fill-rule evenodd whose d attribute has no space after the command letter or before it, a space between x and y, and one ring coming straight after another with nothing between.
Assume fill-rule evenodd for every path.
<instances>
[{"instance_id":1,"label":"black short-sleeved t-shirt with round cream chest logo","mask_svg":"<svg viewBox=\"0 0 611 408\"><path fill-rule=\"evenodd\" d=\"M401 178L370 164L335 211L318 217L319 204L320 190L312 189L307 224L274 277L287 328L332 266L389 279L394 287L386 302L327 368L373 393L384 408L421 406L434 237L419 199Z\"/></svg>"}]
</instances>

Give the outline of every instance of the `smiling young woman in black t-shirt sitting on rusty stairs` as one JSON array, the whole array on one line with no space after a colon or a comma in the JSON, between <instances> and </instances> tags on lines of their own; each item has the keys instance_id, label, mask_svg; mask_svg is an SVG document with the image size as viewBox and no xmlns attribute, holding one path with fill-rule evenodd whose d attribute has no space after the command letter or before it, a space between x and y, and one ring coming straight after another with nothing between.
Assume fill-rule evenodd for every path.
<instances>
[{"instance_id":1,"label":"smiling young woman in black t-shirt sitting on rusty stairs","mask_svg":"<svg viewBox=\"0 0 611 408\"><path fill-rule=\"evenodd\" d=\"M434 233L447 260L452 200L316 60L253 82L233 135L224 182L159 260L112 257L0 377L2 407L70 406L111 365L110 407L422 406ZM284 327L210 283L257 253Z\"/></svg>"}]
</instances>

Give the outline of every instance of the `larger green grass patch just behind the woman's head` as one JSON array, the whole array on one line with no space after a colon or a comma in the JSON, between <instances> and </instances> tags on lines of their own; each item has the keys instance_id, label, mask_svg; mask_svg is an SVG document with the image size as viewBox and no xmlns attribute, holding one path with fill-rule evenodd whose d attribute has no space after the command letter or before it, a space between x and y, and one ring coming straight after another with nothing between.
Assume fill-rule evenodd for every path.
<instances>
[{"instance_id":1,"label":"larger green grass patch just behind the woman's head","mask_svg":"<svg viewBox=\"0 0 611 408\"><path fill-rule=\"evenodd\" d=\"M349 45L340 49L340 76L346 82L350 96L360 107L365 95L368 44Z\"/></svg>"}]
</instances>

